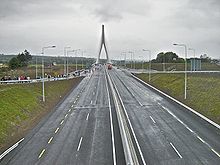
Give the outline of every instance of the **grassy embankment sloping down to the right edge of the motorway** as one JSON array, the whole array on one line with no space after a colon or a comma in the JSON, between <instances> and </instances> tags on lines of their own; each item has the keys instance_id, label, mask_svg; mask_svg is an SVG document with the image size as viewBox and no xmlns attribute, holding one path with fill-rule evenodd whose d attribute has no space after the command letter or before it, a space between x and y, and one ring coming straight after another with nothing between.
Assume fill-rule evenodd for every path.
<instances>
[{"instance_id":1,"label":"grassy embankment sloping down to the right edge of the motorway","mask_svg":"<svg viewBox=\"0 0 220 165\"><path fill-rule=\"evenodd\" d=\"M137 76L148 82L148 74ZM220 124L219 74L188 74L186 100L184 74L153 74L150 84Z\"/></svg>"}]
</instances>

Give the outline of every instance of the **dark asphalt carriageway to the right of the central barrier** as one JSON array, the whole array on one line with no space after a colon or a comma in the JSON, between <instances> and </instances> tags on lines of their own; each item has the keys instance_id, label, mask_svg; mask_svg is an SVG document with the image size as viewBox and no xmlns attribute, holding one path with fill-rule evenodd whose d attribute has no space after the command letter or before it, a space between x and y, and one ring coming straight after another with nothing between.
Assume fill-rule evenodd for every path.
<instances>
[{"instance_id":1,"label":"dark asphalt carriageway to the right of the central barrier","mask_svg":"<svg viewBox=\"0 0 220 165\"><path fill-rule=\"evenodd\" d=\"M115 82L147 164L218 165L220 131L119 69Z\"/></svg>"}]
</instances>

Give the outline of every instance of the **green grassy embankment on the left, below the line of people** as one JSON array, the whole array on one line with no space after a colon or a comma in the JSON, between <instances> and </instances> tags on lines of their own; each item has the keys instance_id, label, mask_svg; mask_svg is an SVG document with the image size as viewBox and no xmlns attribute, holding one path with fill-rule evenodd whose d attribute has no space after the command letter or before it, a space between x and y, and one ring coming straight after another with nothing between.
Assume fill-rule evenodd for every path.
<instances>
[{"instance_id":1,"label":"green grassy embankment on the left, below the line of people","mask_svg":"<svg viewBox=\"0 0 220 165\"><path fill-rule=\"evenodd\" d=\"M46 103L41 83L0 85L0 152L22 138L80 80L45 82Z\"/></svg>"}]
</instances>

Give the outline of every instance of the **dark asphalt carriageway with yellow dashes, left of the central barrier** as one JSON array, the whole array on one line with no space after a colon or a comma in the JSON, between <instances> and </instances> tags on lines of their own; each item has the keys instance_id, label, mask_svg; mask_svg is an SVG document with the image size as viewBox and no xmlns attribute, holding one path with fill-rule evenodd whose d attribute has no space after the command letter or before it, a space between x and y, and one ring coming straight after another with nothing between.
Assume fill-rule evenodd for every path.
<instances>
[{"instance_id":1,"label":"dark asphalt carriageway with yellow dashes, left of the central barrier","mask_svg":"<svg viewBox=\"0 0 220 165\"><path fill-rule=\"evenodd\" d=\"M100 68L84 78L0 164L125 164L109 92Z\"/></svg>"}]
</instances>

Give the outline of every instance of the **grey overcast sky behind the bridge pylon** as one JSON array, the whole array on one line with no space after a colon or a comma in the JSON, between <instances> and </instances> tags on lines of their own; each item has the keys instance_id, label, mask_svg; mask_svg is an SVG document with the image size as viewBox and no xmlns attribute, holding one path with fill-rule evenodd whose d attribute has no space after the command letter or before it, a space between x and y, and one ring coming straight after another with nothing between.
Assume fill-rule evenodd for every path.
<instances>
[{"instance_id":1,"label":"grey overcast sky behind the bridge pylon","mask_svg":"<svg viewBox=\"0 0 220 165\"><path fill-rule=\"evenodd\" d=\"M102 24L111 59L123 51L147 58L143 48L153 58L161 51L184 57L173 43L220 58L220 0L0 0L0 53L36 54L56 45L46 54L63 55L71 46L96 57Z\"/></svg>"}]
</instances>

